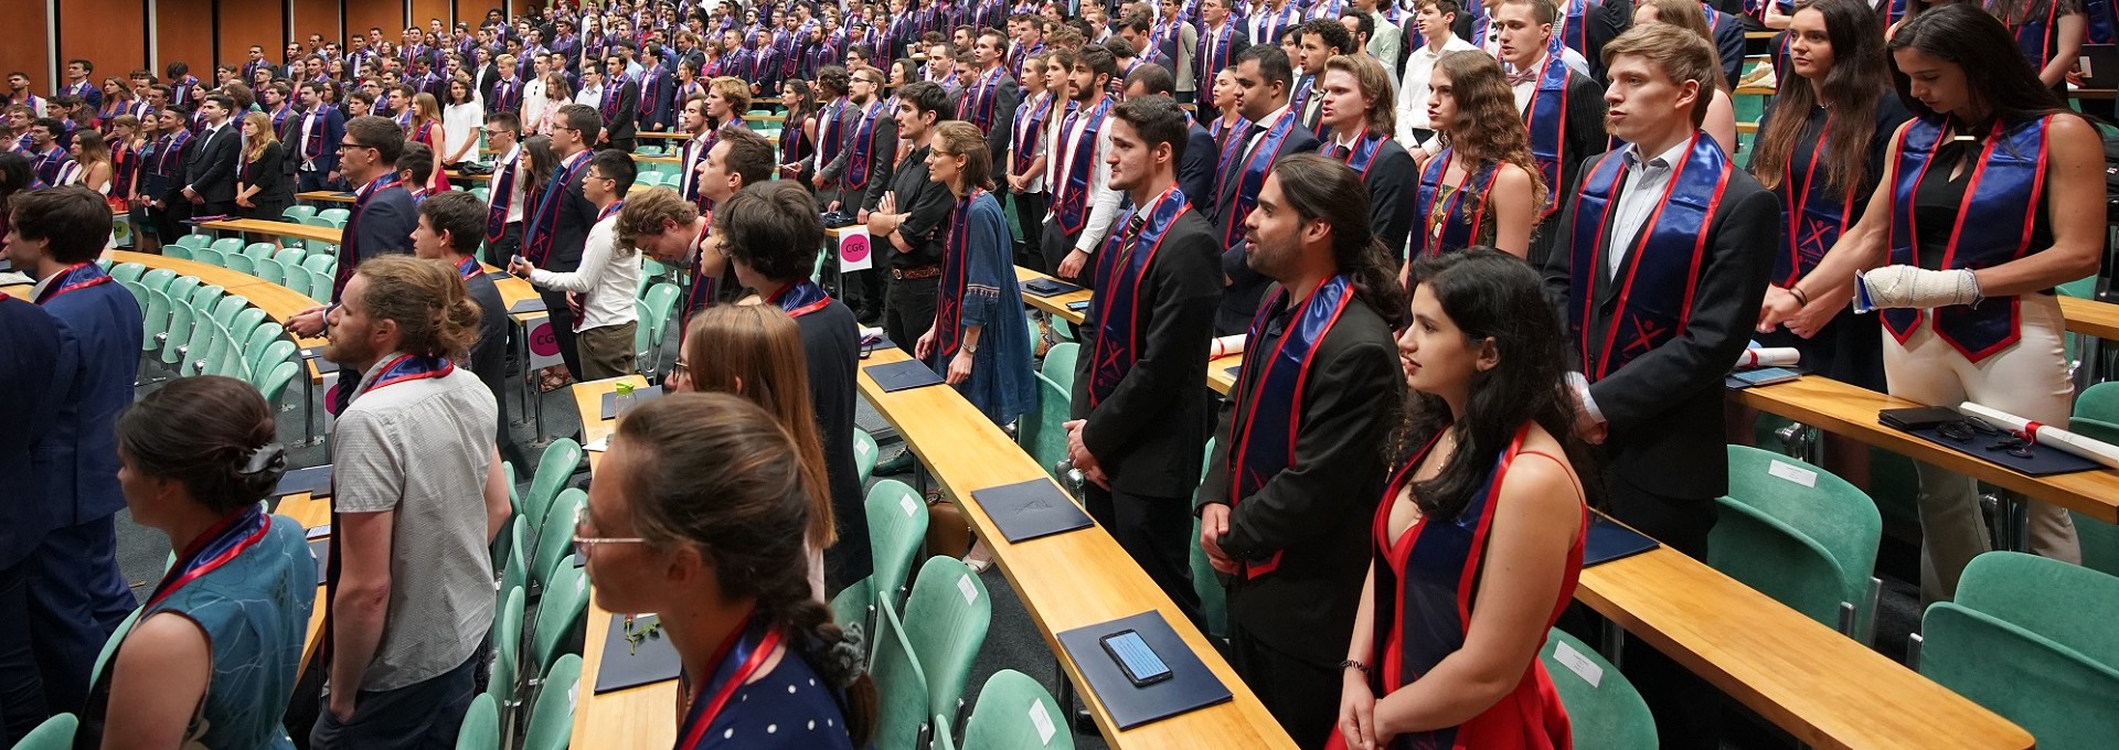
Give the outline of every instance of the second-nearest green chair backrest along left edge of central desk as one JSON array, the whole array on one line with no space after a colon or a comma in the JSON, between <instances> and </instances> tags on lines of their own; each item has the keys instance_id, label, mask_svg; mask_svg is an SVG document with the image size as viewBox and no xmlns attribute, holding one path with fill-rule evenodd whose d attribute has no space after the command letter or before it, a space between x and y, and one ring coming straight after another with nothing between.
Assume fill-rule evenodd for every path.
<instances>
[{"instance_id":1,"label":"second-nearest green chair backrest along left edge of central desk","mask_svg":"<svg viewBox=\"0 0 2119 750\"><path fill-rule=\"evenodd\" d=\"M994 602L985 583L962 559L934 555L920 564L913 595L905 600L905 640L928 678L928 714L956 722L964 680L971 680L971 663L979 659L992 623Z\"/></svg>"}]
</instances>

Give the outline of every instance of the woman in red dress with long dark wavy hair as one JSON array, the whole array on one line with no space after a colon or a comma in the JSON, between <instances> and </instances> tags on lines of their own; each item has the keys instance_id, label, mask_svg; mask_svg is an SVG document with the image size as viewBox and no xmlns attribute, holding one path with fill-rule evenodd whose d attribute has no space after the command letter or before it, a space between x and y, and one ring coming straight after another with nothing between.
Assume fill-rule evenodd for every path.
<instances>
[{"instance_id":1,"label":"woman in red dress with long dark wavy hair","mask_svg":"<svg viewBox=\"0 0 2119 750\"><path fill-rule=\"evenodd\" d=\"M1399 335L1409 458L1375 513L1331 748L1568 748L1538 665L1587 508L1560 322L1538 275L1471 248L1413 263Z\"/></svg>"}]
</instances>

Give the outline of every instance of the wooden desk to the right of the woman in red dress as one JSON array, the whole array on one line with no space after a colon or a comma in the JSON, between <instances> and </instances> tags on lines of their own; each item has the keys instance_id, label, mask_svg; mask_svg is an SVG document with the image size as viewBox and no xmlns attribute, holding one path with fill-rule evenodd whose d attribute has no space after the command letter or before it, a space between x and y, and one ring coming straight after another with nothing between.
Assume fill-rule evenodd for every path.
<instances>
[{"instance_id":1,"label":"wooden desk to the right of the woman in red dress","mask_svg":"<svg viewBox=\"0 0 2119 750\"><path fill-rule=\"evenodd\" d=\"M2030 748L2009 720L1668 547L1574 597L1814 748Z\"/></svg>"}]
</instances>

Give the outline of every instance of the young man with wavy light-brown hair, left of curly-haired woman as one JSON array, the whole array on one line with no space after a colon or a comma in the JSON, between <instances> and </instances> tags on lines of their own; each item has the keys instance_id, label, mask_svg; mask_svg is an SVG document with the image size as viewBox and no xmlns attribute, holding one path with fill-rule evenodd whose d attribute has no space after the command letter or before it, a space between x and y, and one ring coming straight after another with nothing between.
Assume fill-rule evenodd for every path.
<instances>
[{"instance_id":1,"label":"young man with wavy light-brown hair, left of curly-haired woman","mask_svg":"<svg viewBox=\"0 0 2119 750\"><path fill-rule=\"evenodd\" d=\"M1405 256L1405 235L1411 231L1413 157L1399 146L1399 108L1394 102L1390 74L1375 57L1333 55L1324 61L1324 76L1318 81L1324 125L1324 142L1318 153L1346 161L1360 184L1369 189L1369 231L1390 250L1392 258Z\"/></svg>"}]
</instances>

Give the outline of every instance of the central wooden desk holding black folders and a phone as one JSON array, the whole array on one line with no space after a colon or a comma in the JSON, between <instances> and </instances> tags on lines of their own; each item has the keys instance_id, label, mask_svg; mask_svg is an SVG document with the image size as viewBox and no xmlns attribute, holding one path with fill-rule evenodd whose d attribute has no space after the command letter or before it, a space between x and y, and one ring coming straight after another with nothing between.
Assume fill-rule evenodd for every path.
<instances>
[{"instance_id":1,"label":"central wooden desk holding black folders and a phone","mask_svg":"<svg viewBox=\"0 0 2119 750\"><path fill-rule=\"evenodd\" d=\"M894 347L875 350L862 367L903 362ZM1159 722L1119 731L1096 699L1087 699L1098 729L1112 748L1293 748L1295 742L1265 712L1259 697L1223 661L1221 653L1195 629L1176 604L1127 557L1102 528L1057 534L1009 544L994 521L971 498L985 489L1026 479L1051 481L1021 447L996 428L979 409L949 388L913 388L886 394L867 373L860 392L905 436L920 462L932 468L941 489L964 508L1023 600L1053 655L1064 655L1055 633L1104 623L1110 619L1159 610L1187 646L1229 686L1233 701L1172 716ZM1081 672L1062 659L1074 684ZM670 701L663 701L670 706ZM667 708L665 708L667 710ZM667 720L663 720L667 725ZM1062 729L1064 731L1064 729ZM583 737L576 731L576 737Z\"/></svg>"}]
</instances>

